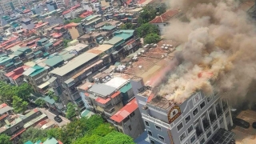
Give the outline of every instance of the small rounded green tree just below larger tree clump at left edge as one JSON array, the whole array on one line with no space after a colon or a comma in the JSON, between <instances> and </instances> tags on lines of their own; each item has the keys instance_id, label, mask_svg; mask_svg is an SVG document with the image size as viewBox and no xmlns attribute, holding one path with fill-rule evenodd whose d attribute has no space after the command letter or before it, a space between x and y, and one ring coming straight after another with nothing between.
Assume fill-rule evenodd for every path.
<instances>
[{"instance_id":1,"label":"small rounded green tree just below larger tree clump at left edge","mask_svg":"<svg viewBox=\"0 0 256 144\"><path fill-rule=\"evenodd\" d=\"M13 107L16 113L23 113L26 110L26 106L29 104L26 101L22 101L22 98L18 98L18 96L13 97Z\"/></svg>"}]
</instances>

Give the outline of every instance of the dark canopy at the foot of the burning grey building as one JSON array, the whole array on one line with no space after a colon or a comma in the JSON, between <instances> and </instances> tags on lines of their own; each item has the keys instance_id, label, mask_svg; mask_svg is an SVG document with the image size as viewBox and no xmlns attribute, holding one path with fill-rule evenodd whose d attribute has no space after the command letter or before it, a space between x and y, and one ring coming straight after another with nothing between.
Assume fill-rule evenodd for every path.
<instances>
[{"instance_id":1,"label":"dark canopy at the foot of the burning grey building","mask_svg":"<svg viewBox=\"0 0 256 144\"><path fill-rule=\"evenodd\" d=\"M220 128L207 144L226 144L234 137L234 132Z\"/></svg>"}]
</instances>

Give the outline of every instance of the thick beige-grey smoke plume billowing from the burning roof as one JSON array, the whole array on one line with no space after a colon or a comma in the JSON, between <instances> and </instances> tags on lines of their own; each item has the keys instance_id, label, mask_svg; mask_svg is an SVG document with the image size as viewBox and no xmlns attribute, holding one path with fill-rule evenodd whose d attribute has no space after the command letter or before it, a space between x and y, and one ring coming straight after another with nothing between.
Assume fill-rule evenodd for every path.
<instances>
[{"instance_id":1,"label":"thick beige-grey smoke plume billowing from the burning roof","mask_svg":"<svg viewBox=\"0 0 256 144\"><path fill-rule=\"evenodd\" d=\"M236 0L170 0L189 22L172 20L166 38L184 44L182 62L161 84L160 95L183 102L196 90L206 95L247 94L256 78L256 27Z\"/></svg>"}]
</instances>

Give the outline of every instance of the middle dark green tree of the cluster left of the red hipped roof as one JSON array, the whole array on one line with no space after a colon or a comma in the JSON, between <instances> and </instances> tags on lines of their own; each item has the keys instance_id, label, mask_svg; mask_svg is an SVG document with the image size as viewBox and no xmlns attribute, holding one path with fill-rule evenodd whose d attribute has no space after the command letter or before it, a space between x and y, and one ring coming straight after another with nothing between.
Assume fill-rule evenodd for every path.
<instances>
[{"instance_id":1,"label":"middle dark green tree of the cluster left of the red hipped roof","mask_svg":"<svg viewBox=\"0 0 256 144\"><path fill-rule=\"evenodd\" d=\"M150 23L145 23L138 27L137 32L140 38L145 38L147 34L158 34L158 27Z\"/></svg>"}]
</instances>

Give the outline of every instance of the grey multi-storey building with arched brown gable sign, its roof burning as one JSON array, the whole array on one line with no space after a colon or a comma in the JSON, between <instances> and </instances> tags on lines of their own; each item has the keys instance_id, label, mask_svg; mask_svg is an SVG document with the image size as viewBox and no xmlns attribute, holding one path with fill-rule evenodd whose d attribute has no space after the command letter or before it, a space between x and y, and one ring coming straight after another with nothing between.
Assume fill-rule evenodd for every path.
<instances>
[{"instance_id":1,"label":"grey multi-storey building with arched brown gable sign, its roof burning","mask_svg":"<svg viewBox=\"0 0 256 144\"><path fill-rule=\"evenodd\" d=\"M218 94L206 96L197 91L178 104L152 93L150 86L138 92L138 107L151 143L217 143L216 139L222 137L229 143L234 136L227 131L233 126L229 102Z\"/></svg>"}]
</instances>

